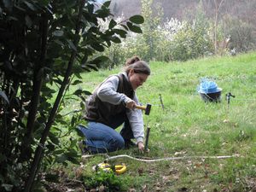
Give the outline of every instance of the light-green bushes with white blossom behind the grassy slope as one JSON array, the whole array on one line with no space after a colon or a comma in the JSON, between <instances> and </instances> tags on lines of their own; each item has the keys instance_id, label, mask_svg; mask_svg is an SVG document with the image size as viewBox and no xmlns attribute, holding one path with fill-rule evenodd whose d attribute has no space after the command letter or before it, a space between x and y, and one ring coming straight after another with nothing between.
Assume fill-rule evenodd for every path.
<instances>
[{"instance_id":1,"label":"light-green bushes with white blossom behind the grassy slope","mask_svg":"<svg viewBox=\"0 0 256 192\"><path fill-rule=\"evenodd\" d=\"M160 8L153 13L152 1L143 1L142 6L143 34L129 32L122 44L107 49L104 55L111 61L105 67L122 65L133 55L145 61L186 61L213 54L210 24L202 11L199 10L192 20L181 22L172 18L161 24Z\"/></svg>"}]
</instances>

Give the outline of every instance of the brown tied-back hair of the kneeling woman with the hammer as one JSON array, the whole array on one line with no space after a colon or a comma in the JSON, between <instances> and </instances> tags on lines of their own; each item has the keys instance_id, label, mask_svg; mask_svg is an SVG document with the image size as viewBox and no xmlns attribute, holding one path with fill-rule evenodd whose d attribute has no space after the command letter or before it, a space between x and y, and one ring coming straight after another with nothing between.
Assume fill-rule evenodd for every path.
<instances>
[{"instance_id":1,"label":"brown tied-back hair of the kneeling woman with the hammer","mask_svg":"<svg viewBox=\"0 0 256 192\"><path fill-rule=\"evenodd\" d=\"M134 73L150 75L150 68L148 63L141 61L138 56L133 56L125 62L125 72L128 74L131 69L133 69Z\"/></svg>"}]
</instances>

